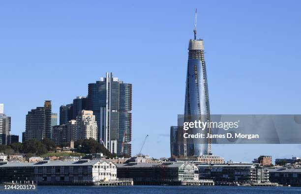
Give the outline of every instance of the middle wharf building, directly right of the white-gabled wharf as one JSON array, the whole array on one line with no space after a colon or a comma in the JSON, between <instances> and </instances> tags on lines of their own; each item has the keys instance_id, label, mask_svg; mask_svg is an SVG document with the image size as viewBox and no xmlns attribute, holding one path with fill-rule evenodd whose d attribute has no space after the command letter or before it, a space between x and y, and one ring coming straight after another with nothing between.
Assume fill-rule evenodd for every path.
<instances>
[{"instance_id":1,"label":"middle wharf building, directly right of the white-gabled wharf","mask_svg":"<svg viewBox=\"0 0 301 194\"><path fill-rule=\"evenodd\" d=\"M132 178L135 185L177 184L197 181L198 167L185 163L128 163L117 164L118 178Z\"/></svg>"}]
</instances>

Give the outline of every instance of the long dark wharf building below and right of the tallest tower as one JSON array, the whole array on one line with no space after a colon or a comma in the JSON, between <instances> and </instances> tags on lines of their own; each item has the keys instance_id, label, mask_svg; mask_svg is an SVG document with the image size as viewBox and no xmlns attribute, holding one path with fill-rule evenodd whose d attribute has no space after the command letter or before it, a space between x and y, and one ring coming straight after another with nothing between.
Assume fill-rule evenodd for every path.
<instances>
[{"instance_id":1,"label":"long dark wharf building below and right of the tallest tower","mask_svg":"<svg viewBox=\"0 0 301 194\"><path fill-rule=\"evenodd\" d=\"M259 164L211 164L198 167L200 179L213 179L215 182L269 182L269 170Z\"/></svg>"}]
</instances>

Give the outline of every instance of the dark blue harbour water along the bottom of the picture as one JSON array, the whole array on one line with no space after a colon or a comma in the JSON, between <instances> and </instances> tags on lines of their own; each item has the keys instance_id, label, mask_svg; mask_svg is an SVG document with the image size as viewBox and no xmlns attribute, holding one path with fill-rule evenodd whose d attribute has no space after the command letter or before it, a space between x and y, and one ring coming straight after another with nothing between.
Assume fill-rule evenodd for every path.
<instances>
[{"instance_id":1,"label":"dark blue harbour water along the bottom of the picture","mask_svg":"<svg viewBox=\"0 0 301 194\"><path fill-rule=\"evenodd\" d=\"M244 186L38 186L37 192L9 194L297 194L301 187Z\"/></svg>"}]
</instances>

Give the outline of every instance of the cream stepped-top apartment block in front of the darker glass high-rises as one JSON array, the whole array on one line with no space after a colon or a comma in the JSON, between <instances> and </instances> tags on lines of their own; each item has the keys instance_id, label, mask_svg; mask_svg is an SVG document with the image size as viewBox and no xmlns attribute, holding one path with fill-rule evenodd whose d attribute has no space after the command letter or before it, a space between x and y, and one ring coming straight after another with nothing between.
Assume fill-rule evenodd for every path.
<instances>
[{"instance_id":1,"label":"cream stepped-top apartment block in front of the darker glass high-rises","mask_svg":"<svg viewBox=\"0 0 301 194\"><path fill-rule=\"evenodd\" d=\"M78 139L94 139L97 140L97 122L93 111L81 111L75 122L74 140Z\"/></svg>"}]
</instances>

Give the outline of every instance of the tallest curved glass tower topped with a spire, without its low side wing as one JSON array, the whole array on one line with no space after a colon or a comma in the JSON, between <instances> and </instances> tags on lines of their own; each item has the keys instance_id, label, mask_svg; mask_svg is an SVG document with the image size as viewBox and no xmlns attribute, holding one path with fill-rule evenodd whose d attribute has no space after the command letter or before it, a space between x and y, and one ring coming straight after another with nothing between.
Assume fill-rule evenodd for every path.
<instances>
[{"instance_id":1,"label":"tallest curved glass tower topped with a spire, without its low side wing","mask_svg":"<svg viewBox=\"0 0 301 194\"><path fill-rule=\"evenodd\" d=\"M196 119L206 122L210 121L209 93L204 58L204 43L202 39L196 39L196 17L193 31L195 39L190 39L188 46L184 116L188 119L190 118L192 122ZM207 134L210 133L210 129L205 128L202 131L197 128L192 129L189 133ZM187 139L184 155L201 156L209 153L211 153L211 146L208 139Z\"/></svg>"}]
</instances>

